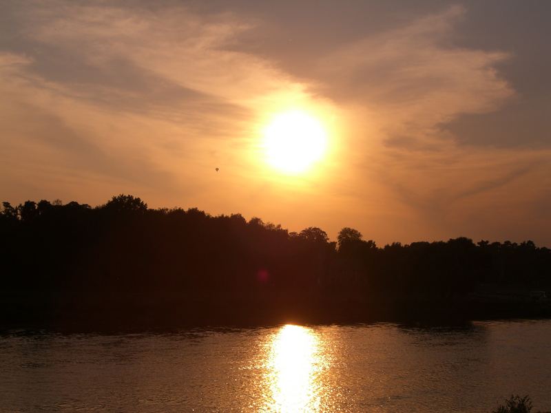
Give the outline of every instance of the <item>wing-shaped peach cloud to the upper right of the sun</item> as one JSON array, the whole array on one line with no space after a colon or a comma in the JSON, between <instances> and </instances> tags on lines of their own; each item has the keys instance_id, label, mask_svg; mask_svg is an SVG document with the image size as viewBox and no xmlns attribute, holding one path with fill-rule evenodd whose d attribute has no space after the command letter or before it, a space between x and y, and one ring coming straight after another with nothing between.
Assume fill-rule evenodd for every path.
<instances>
[{"instance_id":1,"label":"wing-shaped peach cloud to the upper right of the sun","mask_svg":"<svg viewBox=\"0 0 551 413\"><path fill-rule=\"evenodd\" d=\"M446 42L463 15L453 6L342 47L318 63L321 81L313 88L365 107L388 145L404 145L406 136L432 141L442 123L490 112L514 95L495 69L508 54Z\"/></svg>"}]
</instances>

